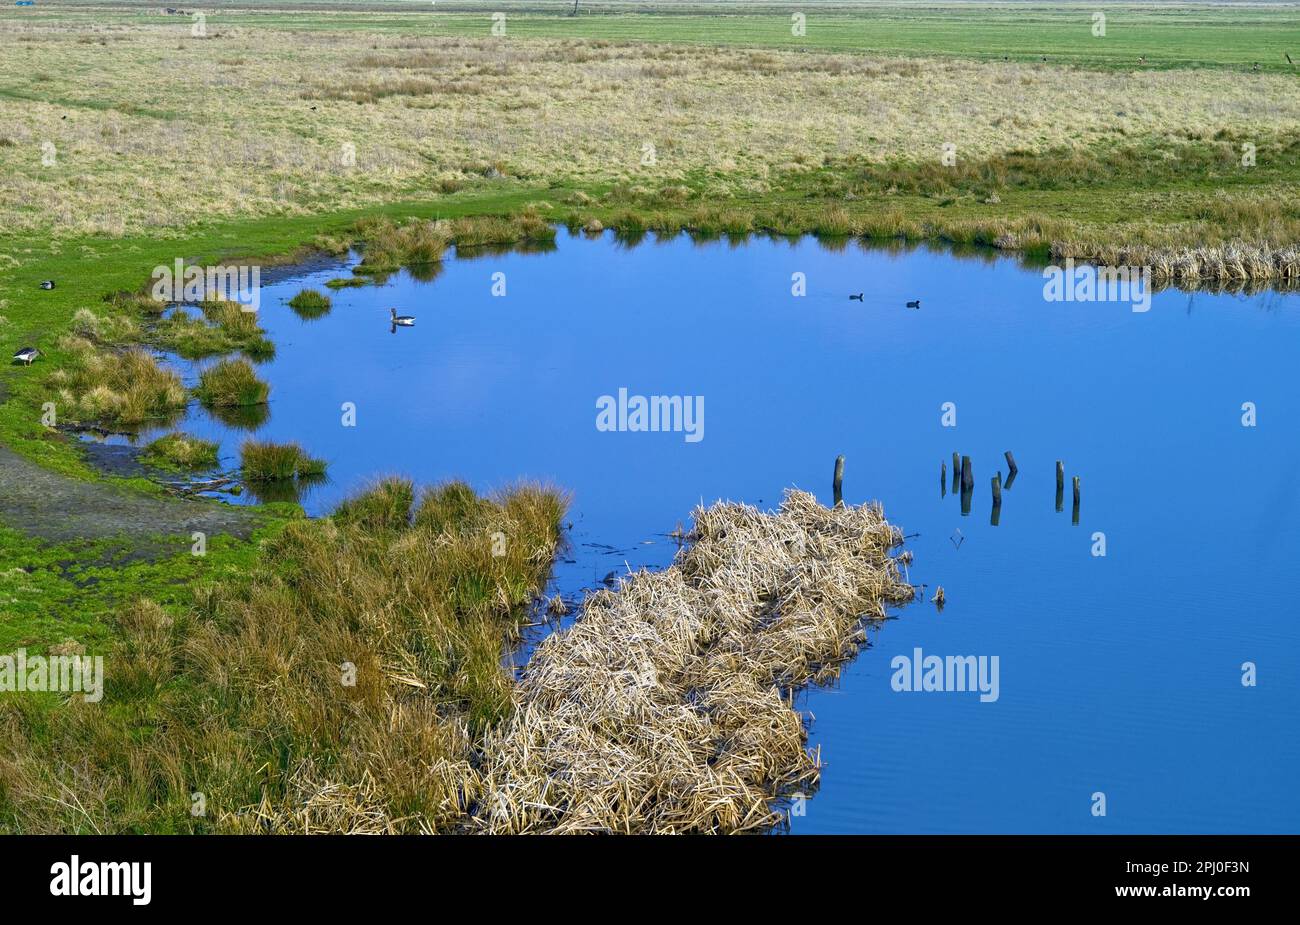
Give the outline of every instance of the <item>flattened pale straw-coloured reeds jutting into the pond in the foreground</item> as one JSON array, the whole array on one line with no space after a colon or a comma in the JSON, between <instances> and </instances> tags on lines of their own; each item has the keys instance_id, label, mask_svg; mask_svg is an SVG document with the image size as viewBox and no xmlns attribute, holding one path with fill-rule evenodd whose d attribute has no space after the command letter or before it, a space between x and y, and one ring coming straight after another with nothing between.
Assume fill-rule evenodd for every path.
<instances>
[{"instance_id":1,"label":"flattened pale straw-coloured reeds jutting into the pond in the foreground","mask_svg":"<svg viewBox=\"0 0 1300 925\"><path fill-rule=\"evenodd\" d=\"M793 690L833 678L863 618L913 598L879 505L696 512L663 572L599 591L545 640L485 739L473 825L489 833L737 833L818 767Z\"/></svg>"}]
</instances>

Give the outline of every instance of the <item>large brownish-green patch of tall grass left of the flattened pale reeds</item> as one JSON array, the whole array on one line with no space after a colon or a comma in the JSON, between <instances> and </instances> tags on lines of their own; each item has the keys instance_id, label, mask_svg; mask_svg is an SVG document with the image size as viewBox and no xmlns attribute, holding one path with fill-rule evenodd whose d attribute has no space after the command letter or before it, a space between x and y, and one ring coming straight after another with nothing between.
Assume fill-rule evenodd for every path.
<instances>
[{"instance_id":1,"label":"large brownish-green patch of tall grass left of the flattened pale reeds","mask_svg":"<svg viewBox=\"0 0 1300 925\"><path fill-rule=\"evenodd\" d=\"M124 608L104 703L0 700L0 828L462 828L473 742L510 709L502 644L546 579L564 500L517 488L433 530L400 525L410 483L376 491L386 500L351 508L398 526L296 521L192 605ZM190 813L195 791L205 816Z\"/></svg>"}]
</instances>

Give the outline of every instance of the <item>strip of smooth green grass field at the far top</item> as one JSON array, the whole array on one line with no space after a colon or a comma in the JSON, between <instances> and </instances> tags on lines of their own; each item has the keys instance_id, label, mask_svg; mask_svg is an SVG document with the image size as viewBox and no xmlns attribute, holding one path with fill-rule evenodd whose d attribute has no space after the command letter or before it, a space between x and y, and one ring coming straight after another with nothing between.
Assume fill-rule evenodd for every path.
<instances>
[{"instance_id":1,"label":"strip of smooth green grass field at the far top","mask_svg":"<svg viewBox=\"0 0 1300 925\"><path fill-rule=\"evenodd\" d=\"M246 13L208 16L209 27L246 25ZM237 6L238 4L226 4ZM131 12L91 12L96 4L51 3L88 22L187 22L157 14L156 4ZM608 42L671 42L706 45L749 45L822 52L866 52L909 56L953 56L975 60L1034 61L1084 68L1228 68L1297 73L1286 55L1300 62L1300 9L1258 4L1041 4L1041 3L844 3L789 4L753 12L751 4L725 3L699 12L702 4L580 4L568 16L563 0L538 12L537 3L351 4L272 3L251 16L259 27L396 32L410 35L486 36L493 13L506 13L511 38ZM283 8L283 9L280 9ZM66 10L66 12L65 12ZM793 12L806 16L806 34L792 34ZM1093 13L1106 17L1105 35L1093 35Z\"/></svg>"}]
</instances>

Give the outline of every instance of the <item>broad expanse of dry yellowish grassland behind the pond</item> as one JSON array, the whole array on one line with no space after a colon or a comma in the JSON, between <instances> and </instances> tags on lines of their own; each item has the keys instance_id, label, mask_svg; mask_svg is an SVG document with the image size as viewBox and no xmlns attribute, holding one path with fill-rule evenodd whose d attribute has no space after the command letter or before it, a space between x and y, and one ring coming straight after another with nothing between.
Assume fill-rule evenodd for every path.
<instances>
[{"instance_id":1,"label":"broad expanse of dry yellowish grassland behind the pond","mask_svg":"<svg viewBox=\"0 0 1300 925\"><path fill-rule=\"evenodd\" d=\"M220 32L6 22L4 227L122 235L426 197L498 174L650 190L690 175L718 195L762 192L774 171L848 155L931 161L946 142L982 157L1300 125L1284 75Z\"/></svg>"}]
</instances>

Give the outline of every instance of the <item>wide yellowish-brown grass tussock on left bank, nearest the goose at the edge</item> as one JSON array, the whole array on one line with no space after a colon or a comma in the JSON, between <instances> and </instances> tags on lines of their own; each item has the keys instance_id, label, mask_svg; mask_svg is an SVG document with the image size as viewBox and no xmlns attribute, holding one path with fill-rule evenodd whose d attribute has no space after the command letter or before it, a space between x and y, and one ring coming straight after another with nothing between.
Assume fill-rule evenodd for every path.
<instances>
[{"instance_id":1,"label":"wide yellowish-brown grass tussock on left bank, nearest the goose at the edge","mask_svg":"<svg viewBox=\"0 0 1300 925\"><path fill-rule=\"evenodd\" d=\"M103 351L75 336L62 347L68 364L47 378L62 420L136 425L185 408L181 377L148 352Z\"/></svg>"}]
</instances>

